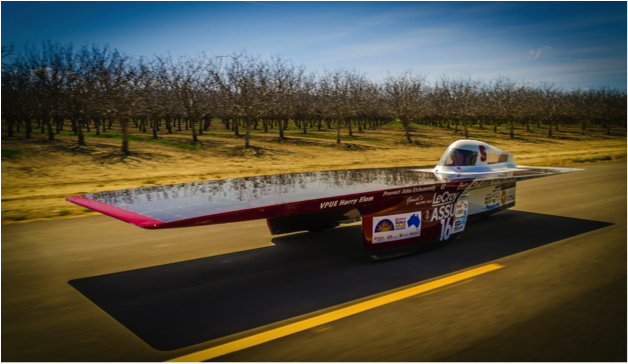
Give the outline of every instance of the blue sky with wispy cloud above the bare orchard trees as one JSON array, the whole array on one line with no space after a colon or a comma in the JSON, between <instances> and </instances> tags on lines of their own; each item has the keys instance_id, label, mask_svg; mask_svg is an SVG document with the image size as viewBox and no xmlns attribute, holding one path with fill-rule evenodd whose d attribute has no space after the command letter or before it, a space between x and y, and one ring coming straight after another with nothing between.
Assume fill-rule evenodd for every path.
<instances>
[{"instance_id":1,"label":"blue sky with wispy cloud above the bare orchard trees","mask_svg":"<svg viewBox=\"0 0 628 364\"><path fill-rule=\"evenodd\" d=\"M2 45L247 50L371 78L412 69L628 91L628 2L5 2Z\"/></svg>"}]
</instances>

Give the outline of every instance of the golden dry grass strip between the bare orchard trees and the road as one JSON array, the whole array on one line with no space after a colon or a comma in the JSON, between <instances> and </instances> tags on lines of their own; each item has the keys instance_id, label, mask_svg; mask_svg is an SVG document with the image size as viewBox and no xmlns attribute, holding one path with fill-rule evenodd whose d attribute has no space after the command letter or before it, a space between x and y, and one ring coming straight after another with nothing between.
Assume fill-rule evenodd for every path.
<instances>
[{"instance_id":1,"label":"golden dry grass strip between the bare orchard trees and the road","mask_svg":"<svg viewBox=\"0 0 628 364\"><path fill-rule=\"evenodd\" d=\"M404 140L399 122L377 130L365 130L354 137L342 130L337 145L335 130L297 129L286 132L279 142L277 133L254 131L253 148L245 149L242 137L216 128L191 144L188 132L160 134L133 133L131 155L120 153L119 133L107 131L96 137L87 133L87 146L80 147L71 133L62 133L53 142L35 132L32 139L2 138L2 224L25 223L95 214L66 202L70 195L141 186L165 185L242 176L316 170L434 165L453 141L464 138L453 129L413 125L413 144ZM497 133L491 126L469 130L469 138L487 142L515 155L519 165L562 166L603 162L628 157L628 131L615 129L605 135L596 126L580 135L579 126L559 127L552 138L545 127L530 132L518 128L510 139L506 126Z\"/></svg>"}]
</instances>

